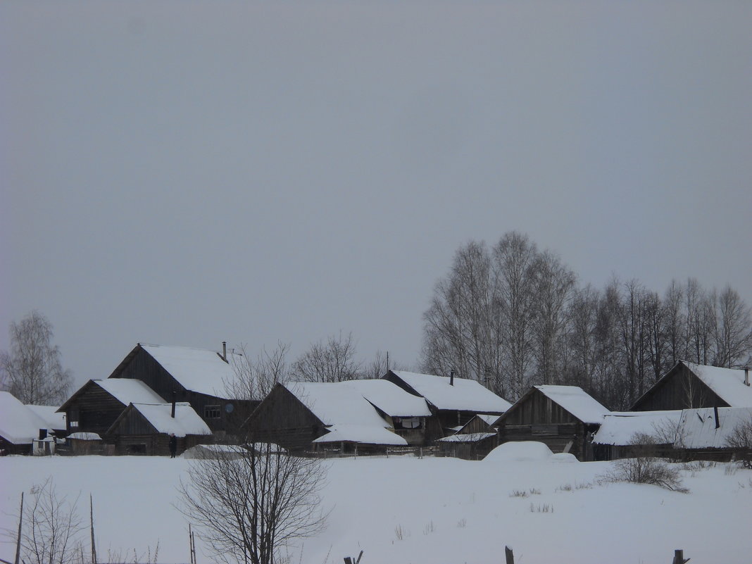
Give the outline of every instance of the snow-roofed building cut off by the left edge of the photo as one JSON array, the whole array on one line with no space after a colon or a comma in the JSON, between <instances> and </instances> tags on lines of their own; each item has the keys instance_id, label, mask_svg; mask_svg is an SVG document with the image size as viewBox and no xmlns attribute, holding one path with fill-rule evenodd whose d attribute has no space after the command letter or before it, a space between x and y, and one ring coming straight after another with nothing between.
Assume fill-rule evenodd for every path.
<instances>
[{"instance_id":1,"label":"snow-roofed building cut off by the left edge of the photo","mask_svg":"<svg viewBox=\"0 0 752 564\"><path fill-rule=\"evenodd\" d=\"M47 421L10 392L0 392L0 454L31 454L34 441L48 432Z\"/></svg>"}]
</instances>

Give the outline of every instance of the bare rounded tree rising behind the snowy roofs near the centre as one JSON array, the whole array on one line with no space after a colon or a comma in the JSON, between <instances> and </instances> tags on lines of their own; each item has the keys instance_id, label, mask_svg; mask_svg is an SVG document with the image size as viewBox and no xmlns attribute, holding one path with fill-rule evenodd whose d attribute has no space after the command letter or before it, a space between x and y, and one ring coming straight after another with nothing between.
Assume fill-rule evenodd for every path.
<instances>
[{"instance_id":1,"label":"bare rounded tree rising behind the snowy roofs near the centre","mask_svg":"<svg viewBox=\"0 0 752 564\"><path fill-rule=\"evenodd\" d=\"M342 382L362 376L362 365L355 359L352 333L332 335L299 356L290 370L293 379L303 382Z\"/></svg>"}]
</instances>

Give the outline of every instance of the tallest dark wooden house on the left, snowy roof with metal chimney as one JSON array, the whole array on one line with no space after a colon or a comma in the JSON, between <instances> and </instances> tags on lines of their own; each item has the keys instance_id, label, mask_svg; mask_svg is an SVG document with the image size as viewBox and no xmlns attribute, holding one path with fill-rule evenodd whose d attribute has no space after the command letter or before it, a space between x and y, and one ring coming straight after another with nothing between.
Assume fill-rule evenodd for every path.
<instances>
[{"instance_id":1,"label":"tallest dark wooden house on the left, snowy roof with metal chimney","mask_svg":"<svg viewBox=\"0 0 752 564\"><path fill-rule=\"evenodd\" d=\"M132 379L144 382L168 402L188 402L217 438L235 434L241 423L259 405L237 399L233 384L238 379L235 353L137 344L108 380Z\"/></svg>"}]
</instances>

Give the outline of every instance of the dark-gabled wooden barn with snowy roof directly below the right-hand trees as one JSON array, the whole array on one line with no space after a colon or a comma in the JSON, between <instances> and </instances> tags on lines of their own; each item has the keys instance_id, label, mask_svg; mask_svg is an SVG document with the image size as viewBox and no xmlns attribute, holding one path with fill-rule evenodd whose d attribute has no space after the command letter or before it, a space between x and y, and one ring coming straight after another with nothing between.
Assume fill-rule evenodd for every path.
<instances>
[{"instance_id":1,"label":"dark-gabled wooden barn with snowy roof directly below the right-hand trees","mask_svg":"<svg viewBox=\"0 0 752 564\"><path fill-rule=\"evenodd\" d=\"M729 407L752 407L748 369L681 361L635 402L632 411Z\"/></svg>"}]
</instances>

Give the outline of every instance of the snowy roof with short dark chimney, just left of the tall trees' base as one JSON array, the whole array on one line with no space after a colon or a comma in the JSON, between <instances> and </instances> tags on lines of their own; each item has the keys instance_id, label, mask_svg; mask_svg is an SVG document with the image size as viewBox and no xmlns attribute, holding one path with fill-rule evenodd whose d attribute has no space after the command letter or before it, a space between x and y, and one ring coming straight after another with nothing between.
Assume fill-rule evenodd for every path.
<instances>
[{"instance_id":1,"label":"snowy roof with short dark chimney, just left of the tall trees' base","mask_svg":"<svg viewBox=\"0 0 752 564\"><path fill-rule=\"evenodd\" d=\"M440 410L502 414L511 407L511 403L475 380L454 378L451 386L450 378L445 376L403 370L393 370L392 373Z\"/></svg>"}]
</instances>

